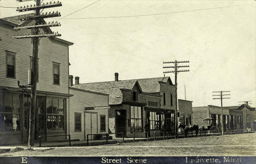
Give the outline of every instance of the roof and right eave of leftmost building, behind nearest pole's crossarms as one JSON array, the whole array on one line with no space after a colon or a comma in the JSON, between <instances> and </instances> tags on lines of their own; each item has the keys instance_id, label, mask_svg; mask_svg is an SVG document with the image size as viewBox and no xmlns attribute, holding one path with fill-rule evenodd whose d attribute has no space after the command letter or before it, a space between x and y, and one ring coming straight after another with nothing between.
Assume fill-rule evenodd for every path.
<instances>
[{"instance_id":1,"label":"roof and right eave of leftmost building, behind nearest pole's crossarms","mask_svg":"<svg viewBox=\"0 0 256 164\"><path fill-rule=\"evenodd\" d=\"M30 14L24 14L24 16L26 15L30 15ZM10 16L10 17L3 17L3 18L0 18L0 21L4 22L5 24L9 24L11 26L20 26L22 24L26 24L25 22L31 22L31 20L27 20L27 21L21 21L19 20L19 16L21 15L16 15L16 16ZM23 15L22 15L23 16ZM41 19L42 22L45 23L44 19ZM50 27L44 27L47 31L51 31ZM50 37L50 38L53 38L59 42L62 42L62 43L66 43L68 45L73 45L74 43L72 42L68 42L67 40L63 40L63 39L60 39L60 38L57 38L57 37Z\"/></svg>"}]
</instances>

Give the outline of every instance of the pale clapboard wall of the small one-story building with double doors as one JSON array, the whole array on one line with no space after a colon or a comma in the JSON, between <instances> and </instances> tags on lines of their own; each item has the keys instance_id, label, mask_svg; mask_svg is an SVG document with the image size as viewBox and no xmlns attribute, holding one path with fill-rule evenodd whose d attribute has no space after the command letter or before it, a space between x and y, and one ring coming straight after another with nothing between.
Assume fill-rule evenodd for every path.
<instances>
[{"instance_id":1,"label":"pale clapboard wall of the small one-story building with double doors","mask_svg":"<svg viewBox=\"0 0 256 164\"><path fill-rule=\"evenodd\" d=\"M72 139L84 139L84 109L85 107L100 107L108 106L108 95L101 93L83 91L78 89L71 88L69 90L71 95L74 95L69 98L69 133L71 134ZM98 133L100 133L100 115L106 115L106 130L108 130L108 110L107 109L96 109L90 110L90 112L97 112L98 117ZM80 132L74 131L74 113L81 113L81 130ZM103 132L106 133L106 132Z\"/></svg>"}]
</instances>

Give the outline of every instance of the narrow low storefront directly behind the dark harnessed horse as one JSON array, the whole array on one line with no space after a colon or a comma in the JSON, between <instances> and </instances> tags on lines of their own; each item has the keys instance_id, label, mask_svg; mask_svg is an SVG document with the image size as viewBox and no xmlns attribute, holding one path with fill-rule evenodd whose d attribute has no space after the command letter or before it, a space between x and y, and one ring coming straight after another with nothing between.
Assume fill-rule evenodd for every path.
<instances>
[{"instance_id":1,"label":"narrow low storefront directly behind the dark harnessed horse","mask_svg":"<svg viewBox=\"0 0 256 164\"><path fill-rule=\"evenodd\" d=\"M192 102L178 99L178 120L183 125L193 125Z\"/></svg>"}]
</instances>

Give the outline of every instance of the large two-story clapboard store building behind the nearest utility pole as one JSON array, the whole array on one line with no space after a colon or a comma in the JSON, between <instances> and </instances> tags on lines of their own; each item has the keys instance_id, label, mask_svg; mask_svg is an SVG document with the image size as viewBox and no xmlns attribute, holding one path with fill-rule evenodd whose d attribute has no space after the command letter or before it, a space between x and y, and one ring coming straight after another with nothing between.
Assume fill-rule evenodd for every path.
<instances>
[{"instance_id":1,"label":"large two-story clapboard store building behind the nearest utility pole","mask_svg":"<svg viewBox=\"0 0 256 164\"><path fill-rule=\"evenodd\" d=\"M14 39L14 26L33 24L17 16L0 19L0 144L27 141L33 44L30 38ZM43 28L49 32L50 28ZM24 32L24 31L22 31ZM25 33L28 31L25 31ZM38 83L36 138L44 135L67 134L68 47L73 43L50 37L41 38L38 52Z\"/></svg>"}]
</instances>

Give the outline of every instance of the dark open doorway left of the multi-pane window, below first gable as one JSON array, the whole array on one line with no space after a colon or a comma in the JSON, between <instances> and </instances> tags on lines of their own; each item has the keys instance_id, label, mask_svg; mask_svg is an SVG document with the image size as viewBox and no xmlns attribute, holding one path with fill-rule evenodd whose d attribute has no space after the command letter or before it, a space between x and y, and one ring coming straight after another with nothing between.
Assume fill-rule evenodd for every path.
<instances>
[{"instance_id":1,"label":"dark open doorway left of the multi-pane window, below first gable","mask_svg":"<svg viewBox=\"0 0 256 164\"><path fill-rule=\"evenodd\" d=\"M126 110L116 110L116 133L124 133L124 136L126 136L126 128L125 128L125 121L126 121ZM122 137L122 134L116 134L117 137Z\"/></svg>"}]
</instances>

